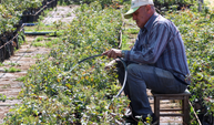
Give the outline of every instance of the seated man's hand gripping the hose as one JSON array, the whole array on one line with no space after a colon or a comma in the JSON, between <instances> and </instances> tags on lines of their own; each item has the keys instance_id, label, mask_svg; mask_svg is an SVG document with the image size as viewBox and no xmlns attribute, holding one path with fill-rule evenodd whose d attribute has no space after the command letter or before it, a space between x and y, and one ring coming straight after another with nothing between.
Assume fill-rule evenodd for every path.
<instances>
[{"instance_id":1,"label":"seated man's hand gripping the hose","mask_svg":"<svg viewBox=\"0 0 214 125\"><path fill-rule=\"evenodd\" d=\"M105 51L102 53L102 55L108 55L109 58L113 58L116 59L118 56L122 56L122 50L118 50L118 49L111 49L109 51Z\"/></svg>"}]
</instances>

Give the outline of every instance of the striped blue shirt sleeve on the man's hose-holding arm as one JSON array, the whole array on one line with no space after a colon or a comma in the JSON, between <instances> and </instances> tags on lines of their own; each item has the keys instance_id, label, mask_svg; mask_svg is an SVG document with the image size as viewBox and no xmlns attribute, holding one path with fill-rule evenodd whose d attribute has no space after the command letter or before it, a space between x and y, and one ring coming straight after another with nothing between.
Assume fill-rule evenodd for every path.
<instances>
[{"instance_id":1,"label":"striped blue shirt sleeve on the man's hose-holding arm","mask_svg":"<svg viewBox=\"0 0 214 125\"><path fill-rule=\"evenodd\" d=\"M139 40L144 43L141 46L142 49L124 51L124 59L143 64L154 64L159 60L170 40L170 30L165 24L159 23L146 35L149 42L145 43L145 41ZM134 46L137 46L139 42L135 43Z\"/></svg>"}]
</instances>

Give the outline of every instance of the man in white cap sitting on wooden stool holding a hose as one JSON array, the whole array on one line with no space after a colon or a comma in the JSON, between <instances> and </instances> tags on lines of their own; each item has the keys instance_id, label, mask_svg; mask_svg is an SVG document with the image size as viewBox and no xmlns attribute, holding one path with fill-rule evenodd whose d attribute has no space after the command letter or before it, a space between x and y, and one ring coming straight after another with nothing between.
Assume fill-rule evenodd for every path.
<instances>
[{"instance_id":1,"label":"man in white cap sitting on wooden stool holding a hose","mask_svg":"<svg viewBox=\"0 0 214 125\"><path fill-rule=\"evenodd\" d=\"M129 50L111 49L103 55L123 58L128 64L128 81L124 93L131 103L128 119L137 123L150 114L146 88L156 93L182 93L190 85L190 74L185 48L181 34L173 22L155 12L153 0L132 0L131 9L124 18L133 18L140 28L134 46ZM119 81L123 83L124 70L118 61Z\"/></svg>"}]
</instances>

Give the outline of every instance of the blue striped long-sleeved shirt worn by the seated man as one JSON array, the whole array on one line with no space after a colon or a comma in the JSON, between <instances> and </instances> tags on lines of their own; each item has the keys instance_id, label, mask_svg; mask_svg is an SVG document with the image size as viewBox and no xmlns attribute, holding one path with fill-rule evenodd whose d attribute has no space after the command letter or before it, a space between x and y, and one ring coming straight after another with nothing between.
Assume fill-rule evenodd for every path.
<instances>
[{"instance_id":1,"label":"blue striped long-sleeved shirt worn by the seated man","mask_svg":"<svg viewBox=\"0 0 214 125\"><path fill-rule=\"evenodd\" d=\"M167 70L182 81L190 74L177 28L159 13L154 13L140 30L131 51L124 50L124 59ZM190 81L186 83L190 84Z\"/></svg>"}]
</instances>

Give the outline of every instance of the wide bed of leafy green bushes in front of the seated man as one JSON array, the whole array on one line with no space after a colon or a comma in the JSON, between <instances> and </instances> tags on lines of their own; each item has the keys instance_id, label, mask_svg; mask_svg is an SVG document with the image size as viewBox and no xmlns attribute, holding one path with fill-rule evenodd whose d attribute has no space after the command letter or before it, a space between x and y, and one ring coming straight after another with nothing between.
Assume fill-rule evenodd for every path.
<instances>
[{"instance_id":1,"label":"wide bed of leafy green bushes in front of the seated man","mask_svg":"<svg viewBox=\"0 0 214 125\"><path fill-rule=\"evenodd\" d=\"M121 88L105 56L78 61L114 48L122 27L121 11L102 9L100 2L82 4L51 53L29 69L22 104L4 118L6 124L110 124L122 121L125 96L108 104ZM70 71L70 72L69 72ZM111 114L115 114L112 117Z\"/></svg>"}]
</instances>

